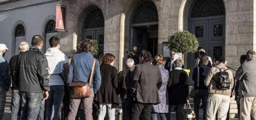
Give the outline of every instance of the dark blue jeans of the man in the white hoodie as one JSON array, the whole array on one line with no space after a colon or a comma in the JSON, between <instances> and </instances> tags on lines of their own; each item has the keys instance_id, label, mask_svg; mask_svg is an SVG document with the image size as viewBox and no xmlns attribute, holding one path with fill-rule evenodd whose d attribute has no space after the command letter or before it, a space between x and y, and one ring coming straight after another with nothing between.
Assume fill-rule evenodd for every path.
<instances>
[{"instance_id":1,"label":"dark blue jeans of the man in the white hoodie","mask_svg":"<svg viewBox=\"0 0 256 120\"><path fill-rule=\"evenodd\" d=\"M64 97L64 85L51 85L49 97L46 99L46 120L58 120L62 100Z\"/></svg>"}]
</instances>

